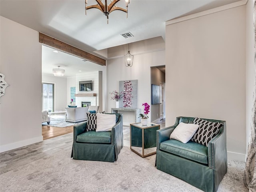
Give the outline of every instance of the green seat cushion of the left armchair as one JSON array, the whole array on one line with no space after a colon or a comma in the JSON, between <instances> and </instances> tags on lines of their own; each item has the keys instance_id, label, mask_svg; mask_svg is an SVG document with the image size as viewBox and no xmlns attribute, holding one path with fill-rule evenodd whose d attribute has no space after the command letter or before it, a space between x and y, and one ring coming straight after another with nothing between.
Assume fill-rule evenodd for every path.
<instances>
[{"instance_id":1,"label":"green seat cushion of the left armchair","mask_svg":"<svg viewBox=\"0 0 256 192\"><path fill-rule=\"evenodd\" d=\"M111 131L87 131L77 136L76 142L81 143L108 143L111 144Z\"/></svg>"}]
</instances>

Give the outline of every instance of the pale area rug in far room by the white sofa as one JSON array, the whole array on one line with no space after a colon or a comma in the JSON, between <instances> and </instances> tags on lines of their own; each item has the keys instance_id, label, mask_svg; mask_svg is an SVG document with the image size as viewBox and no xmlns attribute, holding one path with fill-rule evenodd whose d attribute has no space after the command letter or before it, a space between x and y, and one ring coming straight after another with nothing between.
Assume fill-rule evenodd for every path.
<instances>
[{"instance_id":1,"label":"pale area rug in far room by the white sofa","mask_svg":"<svg viewBox=\"0 0 256 192\"><path fill-rule=\"evenodd\" d=\"M74 125L81 124L81 123L85 122L85 121L78 122L78 123L66 122L65 116L61 116L61 115L53 115L50 118L51 118L50 124L48 125L47 122L43 122L42 126L52 126L52 127L64 128L64 127L74 126Z\"/></svg>"}]
</instances>

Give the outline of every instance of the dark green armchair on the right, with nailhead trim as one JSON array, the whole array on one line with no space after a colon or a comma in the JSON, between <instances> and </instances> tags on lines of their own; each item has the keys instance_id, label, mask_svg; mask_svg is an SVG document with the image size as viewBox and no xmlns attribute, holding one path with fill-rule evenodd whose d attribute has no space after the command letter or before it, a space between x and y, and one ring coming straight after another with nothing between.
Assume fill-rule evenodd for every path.
<instances>
[{"instance_id":1,"label":"dark green armchair on the right, with nailhead trim","mask_svg":"<svg viewBox=\"0 0 256 192\"><path fill-rule=\"evenodd\" d=\"M157 130L156 168L205 192L216 192L227 172L226 121L204 119L222 123L208 146L191 140L184 144L170 139L170 134L180 122L193 123L194 119L177 117L173 126Z\"/></svg>"}]
</instances>

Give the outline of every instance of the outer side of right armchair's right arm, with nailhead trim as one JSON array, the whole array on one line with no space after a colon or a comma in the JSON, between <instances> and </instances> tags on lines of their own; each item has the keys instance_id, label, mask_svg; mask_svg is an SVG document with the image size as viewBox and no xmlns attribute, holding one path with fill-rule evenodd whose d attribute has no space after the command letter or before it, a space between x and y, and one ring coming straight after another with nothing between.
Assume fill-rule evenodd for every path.
<instances>
[{"instance_id":1,"label":"outer side of right armchair's right arm, with nailhead trim","mask_svg":"<svg viewBox=\"0 0 256 192\"><path fill-rule=\"evenodd\" d=\"M218 171L220 169L224 171L227 168L226 122L222 123L220 133L208 143L208 166Z\"/></svg>"}]
</instances>

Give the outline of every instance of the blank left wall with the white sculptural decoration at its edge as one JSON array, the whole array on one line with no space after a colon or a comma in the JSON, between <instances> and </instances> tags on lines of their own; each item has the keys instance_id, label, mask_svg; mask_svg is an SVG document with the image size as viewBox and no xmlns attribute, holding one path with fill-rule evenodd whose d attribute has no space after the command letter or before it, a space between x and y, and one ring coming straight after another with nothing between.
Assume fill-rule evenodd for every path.
<instances>
[{"instance_id":1,"label":"blank left wall with the white sculptural decoration at its edge","mask_svg":"<svg viewBox=\"0 0 256 192\"><path fill-rule=\"evenodd\" d=\"M42 45L39 33L0 16L0 152L42 141Z\"/></svg>"}]
</instances>

